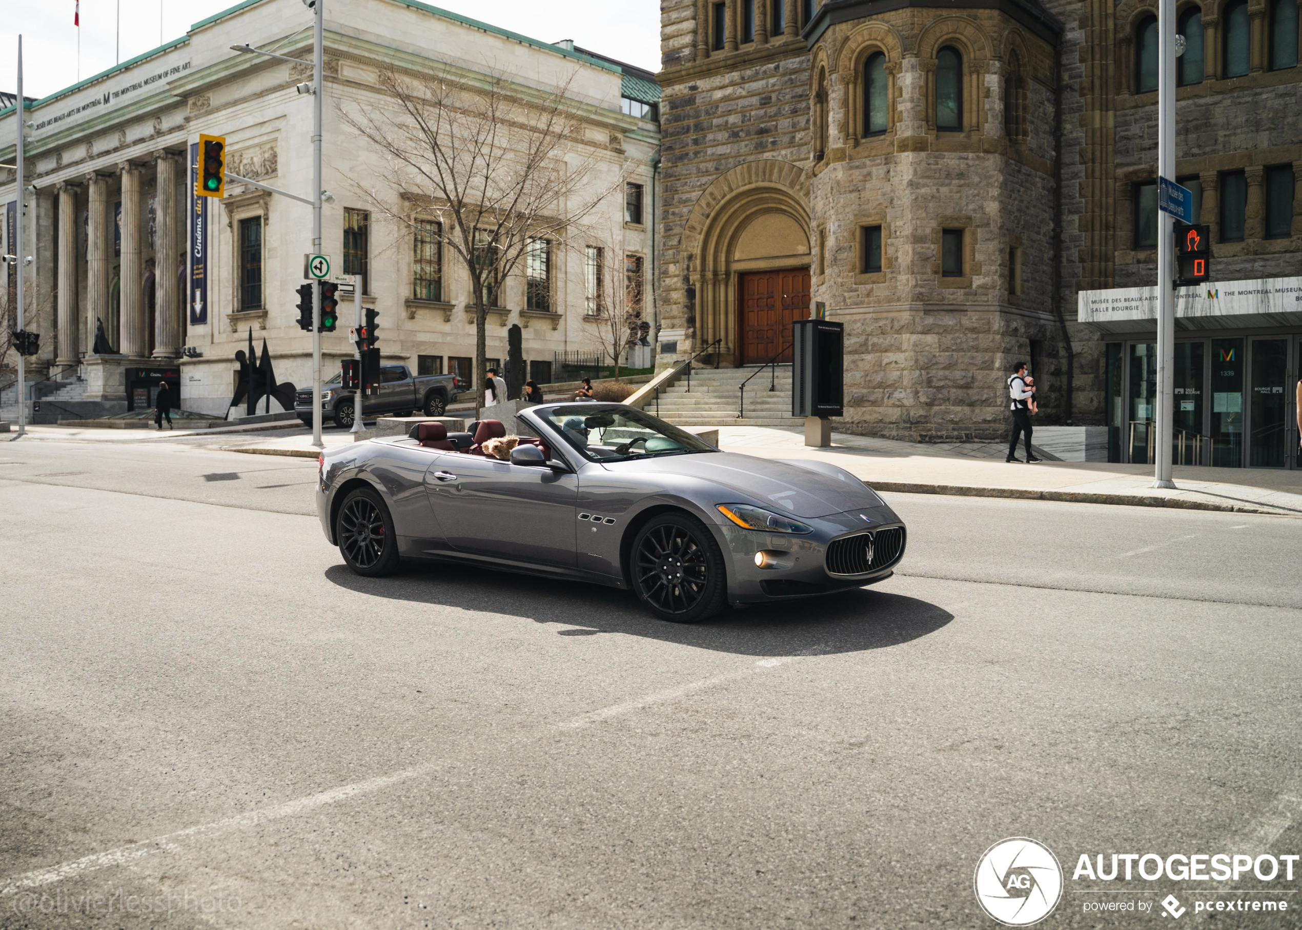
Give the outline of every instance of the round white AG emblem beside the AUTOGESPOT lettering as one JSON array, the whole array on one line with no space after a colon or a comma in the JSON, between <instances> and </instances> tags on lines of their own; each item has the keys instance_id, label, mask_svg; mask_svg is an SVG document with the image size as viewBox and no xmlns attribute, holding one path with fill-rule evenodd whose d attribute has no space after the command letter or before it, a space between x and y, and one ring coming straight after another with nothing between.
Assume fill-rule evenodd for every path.
<instances>
[{"instance_id":1,"label":"round white AG emblem beside the AUTOGESPOT lettering","mask_svg":"<svg viewBox=\"0 0 1302 930\"><path fill-rule=\"evenodd\" d=\"M973 884L992 920L1025 927L1053 913L1062 897L1062 866L1043 843L1012 836L982 853Z\"/></svg>"}]
</instances>

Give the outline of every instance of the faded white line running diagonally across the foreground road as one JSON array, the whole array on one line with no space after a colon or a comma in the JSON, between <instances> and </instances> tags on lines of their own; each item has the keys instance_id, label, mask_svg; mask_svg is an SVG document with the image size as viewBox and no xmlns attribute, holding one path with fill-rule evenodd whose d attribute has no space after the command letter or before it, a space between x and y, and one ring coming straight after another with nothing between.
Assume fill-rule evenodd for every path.
<instances>
[{"instance_id":1,"label":"faded white line running diagonally across the foreground road","mask_svg":"<svg viewBox=\"0 0 1302 930\"><path fill-rule=\"evenodd\" d=\"M822 650L819 649L806 649L792 656L781 656L772 659L760 659L747 668L741 668L736 672L728 672L727 675L716 675L710 679L702 679L699 681L691 681L677 688L668 688L661 692L655 692L646 694L639 698L633 698L631 701L624 701L617 705L611 705L608 707L602 707L599 710L582 714L572 720L557 724L556 727L548 727L546 731L535 733L535 736L542 736L544 732L555 732L555 729L582 729L585 727L591 727L594 723L600 723L602 720L609 720L613 716L620 716L622 714L629 714L642 707L650 707L658 703L665 703L668 701L676 701L678 698L686 697L689 694L695 694L697 692L706 690L707 688L713 688L716 685L736 681L740 679L750 677L758 672L760 668L776 668L793 659L805 658L810 655L819 655ZM306 813L314 808L322 808L328 804L336 804L337 801L344 801L358 795L368 795L381 788L388 788L398 782L406 782L408 779L417 778L419 775L426 775L441 763L428 762L421 766L414 766L411 768L404 768L402 771L392 772L389 775L378 775L376 778L366 779L365 782L355 782L354 784L345 784L339 788L331 788L329 791L323 791L318 795L309 795L306 797L299 797L293 801L285 801L284 804L277 804L271 808L263 808L260 810L250 810L246 814L237 814L236 817L228 817L221 821L215 821L212 823L204 823L197 827L186 827L185 830L177 830L172 834L164 834L163 836L156 836L151 840L145 840L142 843L133 843L129 847L120 847L117 849L109 849L102 853L94 853L91 856L83 856L82 858L73 860L70 862L64 862L61 865L51 866L48 869L38 869L35 871L23 873L21 875L13 875L5 879L4 886L0 886L0 897L8 895L14 895L26 888L39 888L46 884L53 884L55 882L61 882L65 878L72 878L87 871L95 871L98 869L107 869L115 865L125 865L134 860L150 856L156 852L177 852L178 848L176 843L178 840L193 839L198 836L216 836L220 834L230 832L232 830L240 830L241 827L251 827L258 823L264 823L267 821L279 821L285 817L294 817L297 814Z\"/></svg>"}]
</instances>

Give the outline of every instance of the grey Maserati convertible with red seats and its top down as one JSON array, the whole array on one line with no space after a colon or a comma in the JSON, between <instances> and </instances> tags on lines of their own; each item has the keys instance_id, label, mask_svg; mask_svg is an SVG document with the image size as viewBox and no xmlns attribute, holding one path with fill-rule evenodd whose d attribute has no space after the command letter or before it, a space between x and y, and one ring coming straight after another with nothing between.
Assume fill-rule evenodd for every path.
<instances>
[{"instance_id":1,"label":"grey Maserati convertible with red seats and its top down","mask_svg":"<svg viewBox=\"0 0 1302 930\"><path fill-rule=\"evenodd\" d=\"M849 472L720 452L624 404L328 449L316 511L358 574L431 560L575 578L630 587L677 623L871 585L905 547L904 524Z\"/></svg>"}]
</instances>

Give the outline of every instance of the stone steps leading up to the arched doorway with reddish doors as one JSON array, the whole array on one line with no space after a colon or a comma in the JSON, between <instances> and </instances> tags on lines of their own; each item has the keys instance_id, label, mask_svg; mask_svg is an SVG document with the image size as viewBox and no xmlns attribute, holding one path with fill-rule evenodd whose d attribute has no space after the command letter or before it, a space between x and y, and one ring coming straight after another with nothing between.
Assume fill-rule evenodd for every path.
<instances>
[{"instance_id":1,"label":"stone steps leading up to the arched doorway with reddish doors","mask_svg":"<svg viewBox=\"0 0 1302 930\"><path fill-rule=\"evenodd\" d=\"M698 369L687 378L680 378L667 391L660 392L659 417L674 426L803 426L805 421L792 416L792 366L777 367L776 378L769 369ZM755 375L751 378L751 375ZM742 382L746 384L746 416L738 418ZM773 383L773 391L768 389ZM656 413L652 397L643 405Z\"/></svg>"}]
</instances>

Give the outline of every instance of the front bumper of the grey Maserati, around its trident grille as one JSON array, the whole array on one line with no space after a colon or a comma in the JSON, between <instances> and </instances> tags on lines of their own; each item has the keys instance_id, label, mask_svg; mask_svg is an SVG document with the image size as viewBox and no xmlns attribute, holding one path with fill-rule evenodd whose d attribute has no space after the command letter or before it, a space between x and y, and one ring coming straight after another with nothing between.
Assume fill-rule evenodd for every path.
<instances>
[{"instance_id":1,"label":"front bumper of the grey Maserati, around its trident grille","mask_svg":"<svg viewBox=\"0 0 1302 930\"><path fill-rule=\"evenodd\" d=\"M728 600L733 604L792 600L862 587L889 578L904 557L907 531L904 522L885 505L816 520L801 521L814 528L807 535L758 533L733 524L723 524L729 557ZM893 557L871 563L871 569L853 574L832 573L828 568L828 546L852 537L868 539L885 529L900 530L898 552ZM883 538L885 539L885 537ZM892 546L893 548L893 546ZM755 554L776 554L775 568L760 568Z\"/></svg>"}]
</instances>

